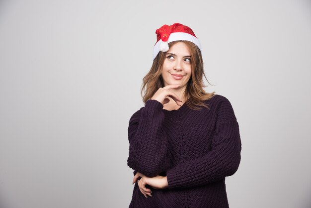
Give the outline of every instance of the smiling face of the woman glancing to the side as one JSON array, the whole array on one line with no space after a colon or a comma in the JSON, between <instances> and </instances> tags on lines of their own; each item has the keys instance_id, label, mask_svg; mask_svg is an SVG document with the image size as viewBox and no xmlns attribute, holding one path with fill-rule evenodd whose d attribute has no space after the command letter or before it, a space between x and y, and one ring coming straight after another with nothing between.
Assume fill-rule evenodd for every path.
<instances>
[{"instance_id":1,"label":"smiling face of the woman glancing to the side","mask_svg":"<svg viewBox=\"0 0 311 208\"><path fill-rule=\"evenodd\" d=\"M191 56L188 46L177 42L166 52L161 72L164 87L167 85L187 85L191 77Z\"/></svg>"}]
</instances>

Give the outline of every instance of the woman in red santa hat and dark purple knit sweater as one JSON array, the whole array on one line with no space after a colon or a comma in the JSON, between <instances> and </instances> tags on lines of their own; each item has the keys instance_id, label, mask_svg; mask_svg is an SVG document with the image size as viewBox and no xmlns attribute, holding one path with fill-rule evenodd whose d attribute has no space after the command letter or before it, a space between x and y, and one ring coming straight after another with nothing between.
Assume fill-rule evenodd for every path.
<instances>
[{"instance_id":1,"label":"woman in red santa hat and dark purple knit sweater","mask_svg":"<svg viewBox=\"0 0 311 208\"><path fill-rule=\"evenodd\" d=\"M228 208L225 177L240 162L239 126L229 100L203 90L201 45L191 28L156 30L145 106L130 118L133 208ZM206 77L205 77L206 78Z\"/></svg>"}]
</instances>

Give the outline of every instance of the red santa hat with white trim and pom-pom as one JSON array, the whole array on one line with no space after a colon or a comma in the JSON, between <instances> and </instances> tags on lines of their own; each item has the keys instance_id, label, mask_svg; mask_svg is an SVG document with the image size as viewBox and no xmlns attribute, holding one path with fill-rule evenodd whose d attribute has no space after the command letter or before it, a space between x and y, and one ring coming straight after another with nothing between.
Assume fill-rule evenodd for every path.
<instances>
[{"instance_id":1,"label":"red santa hat with white trim and pom-pom","mask_svg":"<svg viewBox=\"0 0 311 208\"><path fill-rule=\"evenodd\" d=\"M154 59L162 51L168 51L168 43L176 40L188 40L193 42L201 50L201 44L192 29L180 23L172 25L164 24L156 30L156 44L154 46Z\"/></svg>"}]
</instances>

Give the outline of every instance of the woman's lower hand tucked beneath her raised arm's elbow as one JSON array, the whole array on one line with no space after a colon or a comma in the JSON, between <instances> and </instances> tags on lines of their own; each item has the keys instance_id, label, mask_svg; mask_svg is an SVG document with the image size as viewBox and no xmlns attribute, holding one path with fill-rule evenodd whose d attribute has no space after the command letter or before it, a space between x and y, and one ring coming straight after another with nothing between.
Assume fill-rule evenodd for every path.
<instances>
[{"instance_id":1,"label":"woman's lower hand tucked beneath her raised arm's elbow","mask_svg":"<svg viewBox=\"0 0 311 208\"><path fill-rule=\"evenodd\" d=\"M139 179L141 177L141 179ZM146 185L151 186L154 189L166 189L168 187L167 177L166 176L155 176L153 178L149 178L140 172L137 172L134 176L133 183L138 182L138 187L142 194L147 197L147 195L151 196L151 189L146 188Z\"/></svg>"}]
</instances>

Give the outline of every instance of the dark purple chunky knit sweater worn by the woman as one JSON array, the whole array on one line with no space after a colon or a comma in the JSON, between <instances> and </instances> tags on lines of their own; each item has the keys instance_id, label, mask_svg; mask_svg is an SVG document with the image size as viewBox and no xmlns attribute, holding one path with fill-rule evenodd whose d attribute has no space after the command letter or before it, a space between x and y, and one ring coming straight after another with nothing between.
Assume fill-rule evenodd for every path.
<instances>
[{"instance_id":1,"label":"dark purple chunky knit sweater worn by the woman","mask_svg":"<svg viewBox=\"0 0 311 208\"><path fill-rule=\"evenodd\" d=\"M148 100L129 121L128 166L147 177L167 176L167 189L146 198L135 183L130 208L228 208L225 178L240 162L239 126L229 100L210 109L163 109Z\"/></svg>"}]
</instances>

